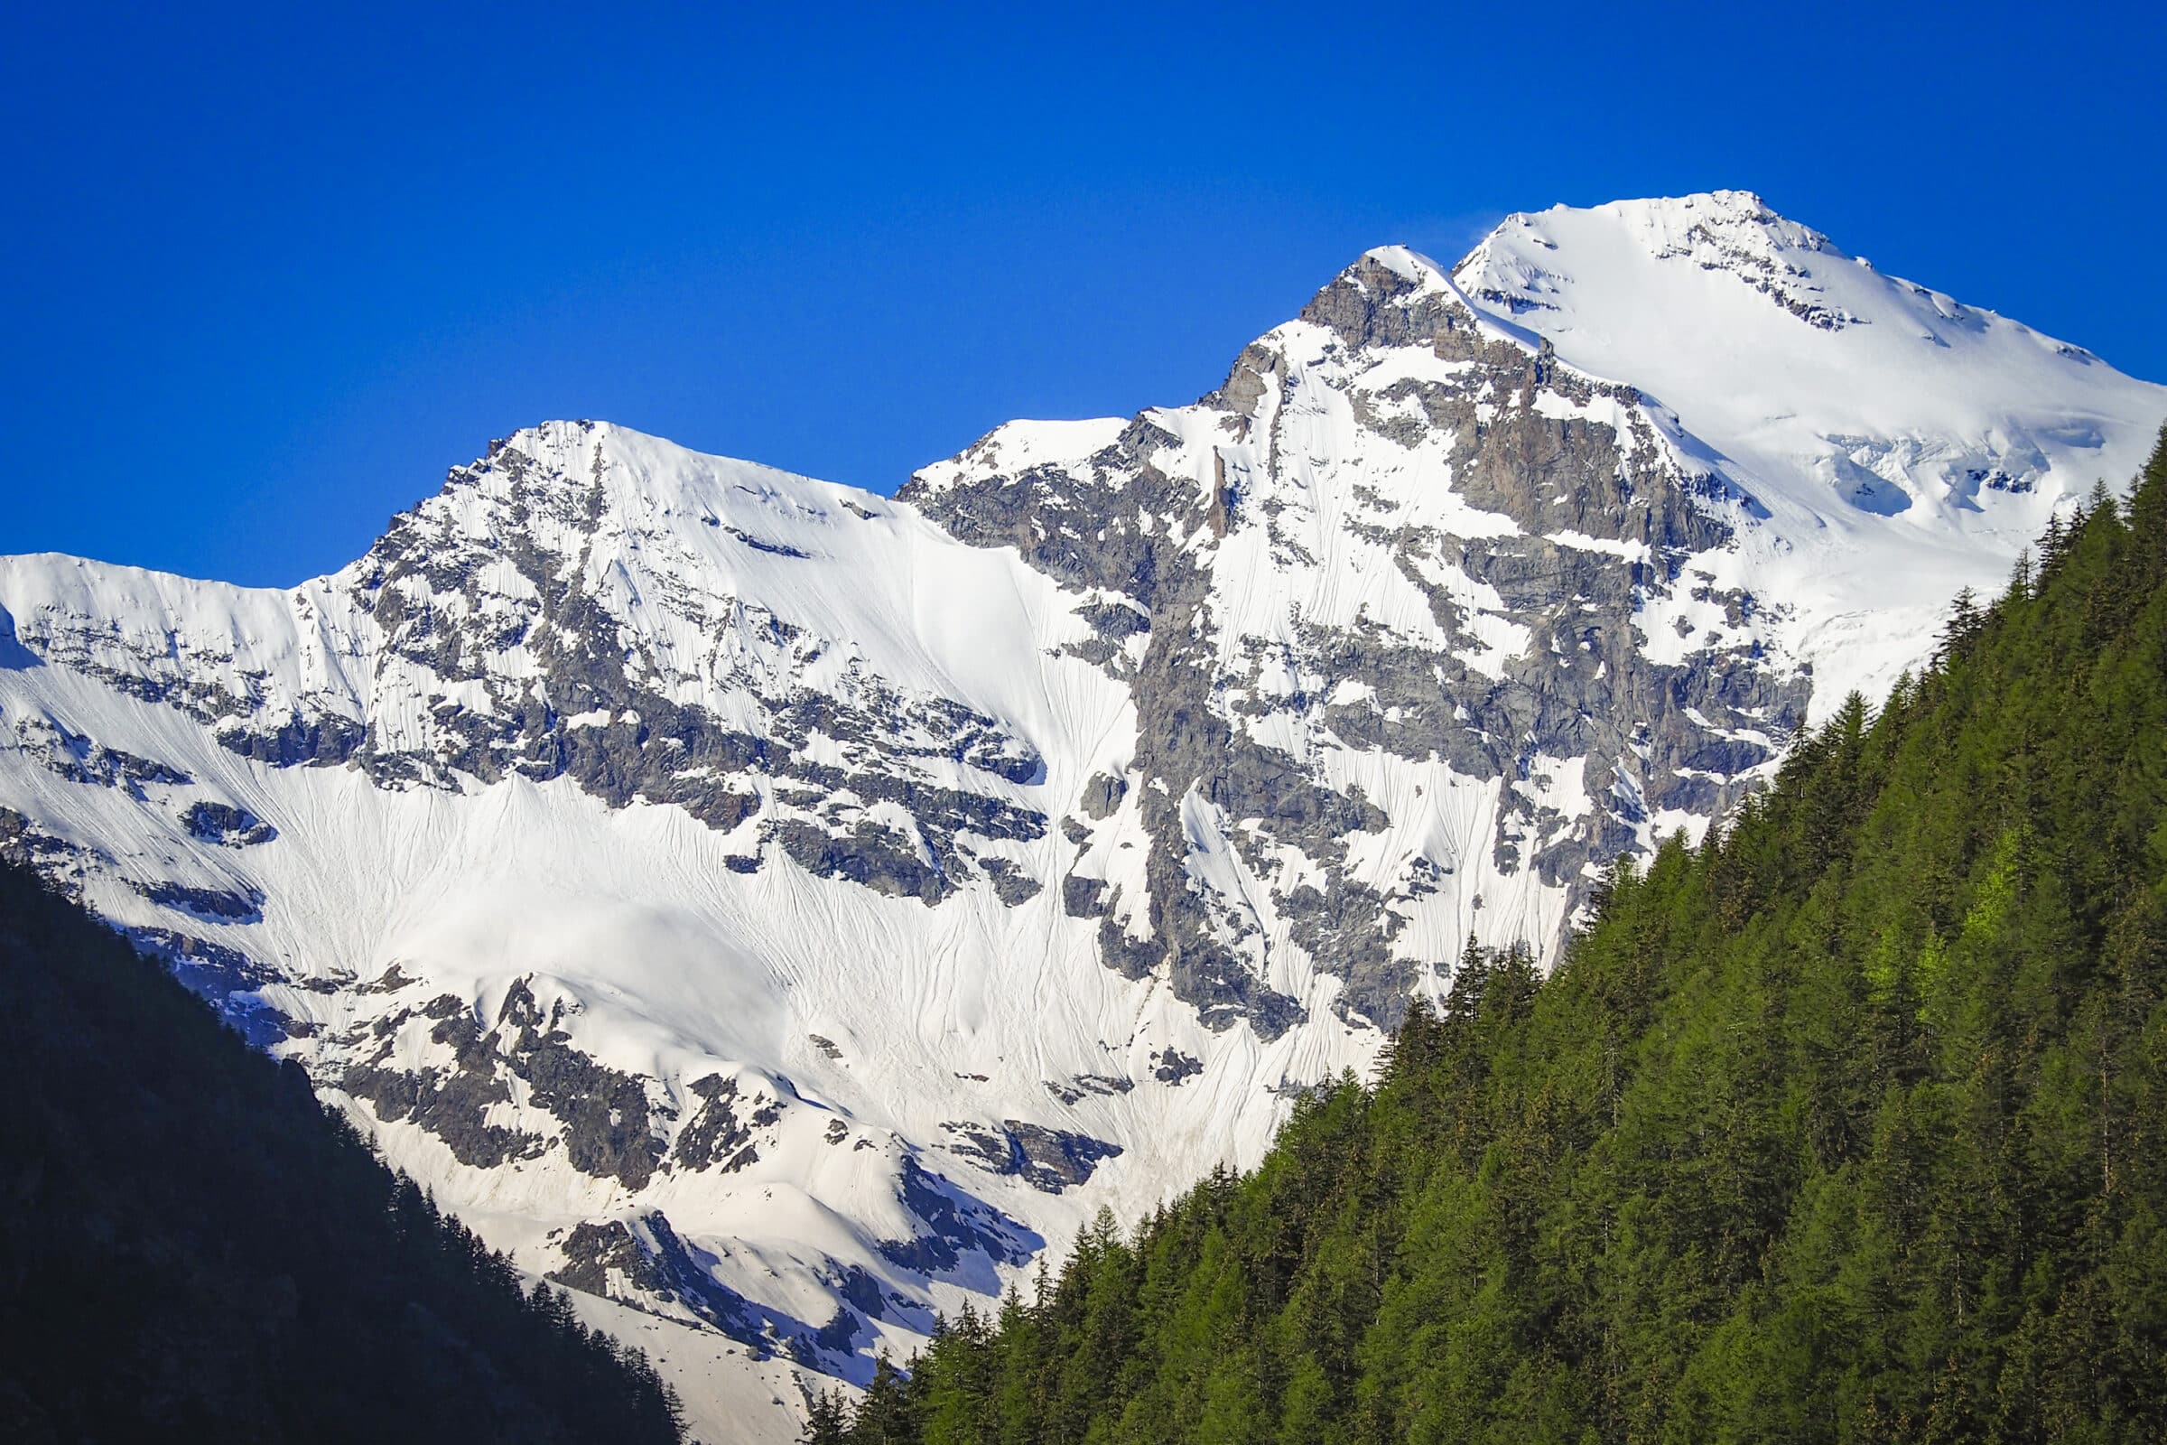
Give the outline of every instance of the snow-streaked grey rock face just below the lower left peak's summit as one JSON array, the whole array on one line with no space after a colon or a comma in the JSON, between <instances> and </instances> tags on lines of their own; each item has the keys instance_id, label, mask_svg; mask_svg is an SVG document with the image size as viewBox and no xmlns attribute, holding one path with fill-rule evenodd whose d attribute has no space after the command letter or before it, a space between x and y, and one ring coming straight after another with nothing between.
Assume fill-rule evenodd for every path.
<instances>
[{"instance_id":1,"label":"snow-streaked grey rock face just below the lower left peak's summit","mask_svg":"<svg viewBox=\"0 0 2167 1445\"><path fill-rule=\"evenodd\" d=\"M758 836L800 867L925 903L966 873L964 836L1044 832L1040 812L940 786L921 765L940 758L964 778L1029 780L1038 756L992 717L951 698L912 695L862 665L813 689L797 676L847 641L704 589L696 572L641 604L693 633L722 628L730 646L706 659L663 646L626 650L620 613L596 596L585 568L594 537L624 526L605 511L602 466L600 444L587 477L501 444L449 483L488 494L481 526L470 509L423 507L375 546L353 596L390 652L433 680L438 700L427 704L425 739L377 726L355 754L362 767L429 784L455 773L483 782L568 776L611 806L676 804L724 832L767 806ZM724 531L754 550L804 559L743 529ZM661 529L639 537L650 550L667 542ZM524 650L535 672L505 676L507 650ZM455 700L459 685L481 698ZM683 702L687 685L741 700L745 719ZM819 760L821 752L839 760Z\"/></svg>"}]
</instances>

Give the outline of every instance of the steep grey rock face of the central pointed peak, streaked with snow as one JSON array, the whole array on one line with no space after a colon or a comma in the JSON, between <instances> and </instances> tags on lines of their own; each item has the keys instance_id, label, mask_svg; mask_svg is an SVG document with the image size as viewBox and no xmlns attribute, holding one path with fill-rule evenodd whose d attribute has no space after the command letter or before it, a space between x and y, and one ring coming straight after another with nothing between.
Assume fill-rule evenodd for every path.
<instances>
[{"instance_id":1,"label":"steep grey rock face of the central pointed peak, streaked with snow","mask_svg":"<svg viewBox=\"0 0 2167 1445\"><path fill-rule=\"evenodd\" d=\"M1016 548L1099 637L1110 609L1144 620L1092 659L1136 704L1140 786L1101 773L1077 804L1136 810L1144 886L1116 897L1077 871L1062 903L1103 919L1107 966L1164 968L1214 1027L1300 1023L1263 981L1274 934L1346 981L1341 1014L1380 1025L1441 962L1398 940L1465 856L1363 875L1350 858L1393 817L1337 780L1359 769L1335 754L1495 786L1495 871L1571 908L1658 819L1718 810L1803 721L1809 676L1770 656L1762 600L1697 570L1751 503L1686 455L1675 418L1484 325L1404 253L1352 266L1194 407L1021 472L1003 442L901 498ZM1374 602L1335 604L1350 572L1385 568L1396 583L1363 583ZM1682 630L1649 648L1651 615ZM1214 845L1237 886L1198 867Z\"/></svg>"}]
</instances>

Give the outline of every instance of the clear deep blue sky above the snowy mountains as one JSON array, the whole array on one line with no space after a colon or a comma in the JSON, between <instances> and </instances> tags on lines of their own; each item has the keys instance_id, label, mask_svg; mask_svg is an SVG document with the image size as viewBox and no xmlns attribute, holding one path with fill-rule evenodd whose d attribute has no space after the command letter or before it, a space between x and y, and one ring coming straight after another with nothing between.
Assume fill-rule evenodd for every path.
<instances>
[{"instance_id":1,"label":"clear deep blue sky above the snowy mountains","mask_svg":"<svg viewBox=\"0 0 2167 1445\"><path fill-rule=\"evenodd\" d=\"M293 583L553 416L893 490L1718 186L2167 379L2156 6L607 9L15 6L0 552Z\"/></svg>"}]
</instances>

